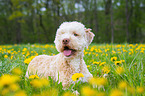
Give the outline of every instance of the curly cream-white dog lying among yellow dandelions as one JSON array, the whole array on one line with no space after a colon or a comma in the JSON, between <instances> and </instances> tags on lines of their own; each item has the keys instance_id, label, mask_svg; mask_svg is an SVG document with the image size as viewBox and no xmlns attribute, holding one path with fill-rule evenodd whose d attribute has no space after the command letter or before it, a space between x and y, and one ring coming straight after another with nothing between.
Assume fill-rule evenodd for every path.
<instances>
[{"instance_id":1,"label":"curly cream-white dog lying among yellow dandelions","mask_svg":"<svg viewBox=\"0 0 145 96\"><path fill-rule=\"evenodd\" d=\"M55 56L39 55L29 64L26 77L37 74L39 76L51 76L54 80L69 86L73 81L72 75L82 73L81 79L87 82L92 74L88 71L83 60L83 50L92 42L94 34L86 29L82 23L64 22L57 29L55 45L59 54Z\"/></svg>"}]
</instances>

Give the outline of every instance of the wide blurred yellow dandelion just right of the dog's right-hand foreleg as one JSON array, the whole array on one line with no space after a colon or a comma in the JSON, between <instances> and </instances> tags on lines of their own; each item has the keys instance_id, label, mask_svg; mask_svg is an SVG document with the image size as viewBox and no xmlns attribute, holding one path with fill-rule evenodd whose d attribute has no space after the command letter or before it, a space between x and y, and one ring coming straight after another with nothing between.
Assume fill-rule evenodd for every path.
<instances>
[{"instance_id":1,"label":"wide blurred yellow dandelion just right of the dog's right-hand foreleg","mask_svg":"<svg viewBox=\"0 0 145 96\"><path fill-rule=\"evenodd\" d=\"M107 79L106 78L91 78L89 80L89 83L92 84L92 85L98 85L98 86L104 86L107 84Z\"/></svg>"}]
</instances>

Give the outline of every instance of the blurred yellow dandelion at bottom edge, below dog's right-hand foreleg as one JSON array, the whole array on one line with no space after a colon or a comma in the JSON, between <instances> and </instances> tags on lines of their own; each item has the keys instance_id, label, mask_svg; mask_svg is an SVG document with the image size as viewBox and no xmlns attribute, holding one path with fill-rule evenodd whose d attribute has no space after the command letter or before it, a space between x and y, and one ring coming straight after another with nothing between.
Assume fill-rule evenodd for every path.
<instances>
[{"instance_id":1,"label":"blurred yellow dandelion at bottom edge, below dog's right-hand foreleg","mask_svg":"<svg viewBox=\"0 0 145 96\"><path fill-rule=\"evenodd\" d=\"M96 96L97 92L94 89L91 89L88 86L84 86L81 89L81 93L82 93L83 96Z\"/></svg>"}]
</instances>

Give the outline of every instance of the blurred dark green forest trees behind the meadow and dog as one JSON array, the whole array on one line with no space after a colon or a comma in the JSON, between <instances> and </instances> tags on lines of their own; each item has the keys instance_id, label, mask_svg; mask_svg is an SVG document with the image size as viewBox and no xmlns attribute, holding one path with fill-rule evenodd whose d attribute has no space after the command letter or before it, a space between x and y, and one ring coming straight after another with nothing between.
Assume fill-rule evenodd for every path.
<instances>
[{"instance_id":1,"label":"blurred dark green forest trees behind the meadow and dog","mask_svg":"<svg viewBox=\"0 0 145 96\"><path fill-rule=\"evenodd\" d=\"M91 28L94 43L145 43L145 0L0 0L0 44L53 43L64 21Z\"/></svg>"}]
</instances>

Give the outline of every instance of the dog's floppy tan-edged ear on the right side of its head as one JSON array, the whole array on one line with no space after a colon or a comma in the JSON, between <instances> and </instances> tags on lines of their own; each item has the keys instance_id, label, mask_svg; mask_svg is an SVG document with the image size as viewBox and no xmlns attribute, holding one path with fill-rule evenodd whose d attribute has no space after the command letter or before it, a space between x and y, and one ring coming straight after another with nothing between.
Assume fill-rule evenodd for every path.
<instances>
[{"instance_id":1,"label":"dog's floppy tan-edged ear on the right side of its head","mask_svg":"<svg viewBox=\"0 0 145 96\"><path fill-rule=\"evenodd\" d=\"M93 41L94 39L94 33L91 32L92 29L88 28L86 29L85 28L85 32L86 32L86 36L87 36L87 47L91 44L91 42Z\"/></svg>"}]
</instances>

